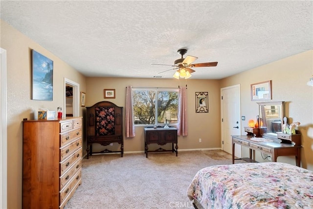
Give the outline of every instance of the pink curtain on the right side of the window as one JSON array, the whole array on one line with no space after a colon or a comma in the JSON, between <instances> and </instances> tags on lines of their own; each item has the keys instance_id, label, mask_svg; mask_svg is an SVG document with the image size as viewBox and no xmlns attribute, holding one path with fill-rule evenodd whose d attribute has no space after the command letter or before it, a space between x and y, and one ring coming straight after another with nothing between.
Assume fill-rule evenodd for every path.
<instances>
[{"instance_id":1,"label":"pink curtain on the right side of the window","mask_svg":"<svg viewBox=\"0 0 313 209\"><path fill-rule=\"evenodd\" d=\"M178 136L187 136L187 87L179 88Z\"/></svg>"}]
</instances>

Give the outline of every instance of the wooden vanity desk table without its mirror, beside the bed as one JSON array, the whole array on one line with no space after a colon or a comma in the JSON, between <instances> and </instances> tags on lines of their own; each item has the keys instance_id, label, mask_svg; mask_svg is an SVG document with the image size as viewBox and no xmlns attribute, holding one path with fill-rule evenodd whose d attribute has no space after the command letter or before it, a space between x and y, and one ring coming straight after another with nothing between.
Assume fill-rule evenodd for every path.
<instances>
[{"instance_id":1,"label":"wooden vanity desk table without its mirror, beside the bed","mask_svg":"<svg viewBox=\"0 0 313 209\"><path fill-rule=\"evenodd\" d=\"M285 134L284 134L285 135ZM232 136L232 163L235 163L235 144L239 144L244 147L249 148L249 158L242 158L249 163L257 163L252 159L252 150L258 150L262 153L271 156L272 162L277 162L277 157L279 156L295 156L296 165L300 167L301 163L301 145L300 144L288 144L280 143L280 139L272 139L272 142L266 141L254 141L251 140L253 136ZM300 136L297 136L300 137Z\"/></svg>"}]
</instances>

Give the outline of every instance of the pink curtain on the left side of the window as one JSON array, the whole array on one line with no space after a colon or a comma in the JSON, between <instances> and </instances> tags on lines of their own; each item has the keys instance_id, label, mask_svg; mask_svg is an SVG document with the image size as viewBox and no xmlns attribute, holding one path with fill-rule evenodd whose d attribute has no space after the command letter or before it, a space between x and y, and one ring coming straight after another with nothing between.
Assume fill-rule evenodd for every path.
<instances>
[{"instance_id":1,"label":"pink curtain on the left side of the window","mask_svg":"<svg viewBox=\"0 0 313 209\"><path fill-rule=\"evenodd\" d=\"M135 136L135 128L133 122L133 93L132 86L126 87L126 138Z\"/></svg>"}]
</instances>

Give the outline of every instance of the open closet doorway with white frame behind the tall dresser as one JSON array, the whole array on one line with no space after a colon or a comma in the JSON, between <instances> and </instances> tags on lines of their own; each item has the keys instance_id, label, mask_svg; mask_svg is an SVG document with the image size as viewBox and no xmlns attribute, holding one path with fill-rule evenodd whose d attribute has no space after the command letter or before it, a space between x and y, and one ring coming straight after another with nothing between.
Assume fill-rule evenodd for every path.
<instances>
[{"instance_id":1,"label":"open closet doorway with white frame behind the tall dresser","mask_svg":"<svg viewBox=\"0 0 313 209\"><path fill-rule=\"evenodd\" d=\"M67 90L71 90L72 95L69 95L69 92ZM64 78L64 110L63 114L65 116L79 116L79 104L80 101L80 89L79 84L71 81L67 78Z\"/></svg>"}]
</instances>

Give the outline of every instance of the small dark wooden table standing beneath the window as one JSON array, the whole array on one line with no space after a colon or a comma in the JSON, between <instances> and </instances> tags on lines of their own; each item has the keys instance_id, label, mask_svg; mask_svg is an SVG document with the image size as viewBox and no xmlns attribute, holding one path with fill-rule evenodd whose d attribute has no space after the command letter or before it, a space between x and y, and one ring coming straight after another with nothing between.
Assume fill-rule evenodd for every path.
<instances>
[{"instance_id":1,"label":"small dark wooden table standing beneath the window","mask_svg":"<svg viewBox=\"0 0 313 209\"><path fill-rule=\"evenodd\" d=\"M158 145L164 145L167 143L172 143L171 150L165 150L162 148L158 148L154 151L149 152L166 152L172 151L176 152L176 156L178 154L178 145L177 145L177 128L169 127L169 128L144 128L145 131L145 153L146 158L148 158L148 144L156 143ZM176 143L174 147L174 143Z\"/></svg>"}]
</instances>

